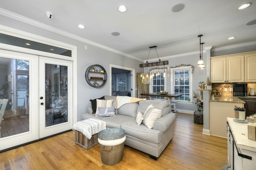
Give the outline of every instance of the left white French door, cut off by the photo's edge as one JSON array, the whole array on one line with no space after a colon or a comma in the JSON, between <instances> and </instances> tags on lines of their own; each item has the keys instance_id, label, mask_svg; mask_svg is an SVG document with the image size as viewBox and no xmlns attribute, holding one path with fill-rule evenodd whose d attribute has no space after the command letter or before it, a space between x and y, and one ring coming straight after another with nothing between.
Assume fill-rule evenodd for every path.
<instances>
[{"instance_id":1,"label":"left white French door, cut off by the photo's edge","mask_svg":"<svg viewBox=\"0 0 256 170\"><path fill-rule=\"evenodd\" d=\"M0 65L0 83L6 87L0 98L10 105L0 121L0 150L4 150L38 139L38 56L0 49Z\"/></svg>"}]
</instances>

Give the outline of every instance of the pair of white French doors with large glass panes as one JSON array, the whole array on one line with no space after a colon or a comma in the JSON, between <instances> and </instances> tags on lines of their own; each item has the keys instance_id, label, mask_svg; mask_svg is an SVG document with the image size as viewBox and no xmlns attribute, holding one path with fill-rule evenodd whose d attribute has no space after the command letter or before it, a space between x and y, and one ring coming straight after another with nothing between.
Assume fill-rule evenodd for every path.
<instances>
[{"instance_id":1,"label":"pair of white French doors with large glass panes","mask_svg":"<svg viewBox=\"0 0 256 170\"><path fill-rule=\"evenodd\" d=\"M73 62L0 49L0 150L72 129ZM15 77L14 77L15 76Z\"/></svg>"}]
</instances>

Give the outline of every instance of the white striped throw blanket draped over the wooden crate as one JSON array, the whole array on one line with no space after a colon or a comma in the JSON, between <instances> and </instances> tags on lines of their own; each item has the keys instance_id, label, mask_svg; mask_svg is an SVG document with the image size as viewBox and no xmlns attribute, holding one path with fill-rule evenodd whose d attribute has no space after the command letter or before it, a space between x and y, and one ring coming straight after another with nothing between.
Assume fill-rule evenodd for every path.
<instances>
[{"instance_id":1,"label":"white striped throw blanket draped over the wooden crate","mask_svg":"<svg viewBox=\"0 0 256 170\"><path fill-rule=\"evenodd\" d=\"M77 130L83 133L88 139L91 139L92 135L99 133L106 129L106 123L98 119L86 119L74 124L72 130Z\"/></svg>"}]
</instances>

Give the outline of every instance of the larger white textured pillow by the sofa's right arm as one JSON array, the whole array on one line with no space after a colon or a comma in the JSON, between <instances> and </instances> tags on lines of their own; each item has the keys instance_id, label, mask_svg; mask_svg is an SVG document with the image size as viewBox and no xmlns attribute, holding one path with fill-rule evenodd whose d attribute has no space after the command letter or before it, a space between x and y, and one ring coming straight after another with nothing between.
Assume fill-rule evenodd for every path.
<instances>
[{"instance_id":1,"label":"larger white textured pillow by the sofa's right arm","mask_svg":"<svg viewBox=\"0 0 256 170\"><path fill-rule=\"evenodd\" d=\"M151 104L150 106L148 106L148 108L146 109L143 115L144 119L142 120L142 123L146 125L146 127L148 127L149 129L152 129L154 122L161 116L162 116L162 110L156 109Z\"/></svg>"}]
</instances>

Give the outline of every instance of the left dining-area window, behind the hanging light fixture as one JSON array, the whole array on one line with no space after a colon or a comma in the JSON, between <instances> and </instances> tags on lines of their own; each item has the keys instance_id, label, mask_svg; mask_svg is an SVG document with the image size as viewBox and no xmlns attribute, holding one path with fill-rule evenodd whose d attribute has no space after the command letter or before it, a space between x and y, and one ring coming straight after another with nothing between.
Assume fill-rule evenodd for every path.
<instances>
[{"instance_id":1,"label":"left dining-area window, behind the hanging light fixture","mask_svg":"<svg viewBox=\"0 0 256 170\"><path fill-rule=\"evenodd\" d=\"M156 74L154 74L153 78L151 78L150 81L151 81L150 84L152 84L150 91L152 93L159 93L161 90L166 89L164 72L160 72L160 75L157 75L157 76ZM154 98L164 99L164 97L154 97Z\"/></svg>"}]
</instances>

